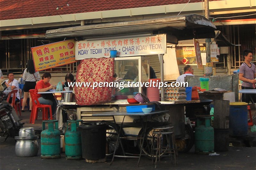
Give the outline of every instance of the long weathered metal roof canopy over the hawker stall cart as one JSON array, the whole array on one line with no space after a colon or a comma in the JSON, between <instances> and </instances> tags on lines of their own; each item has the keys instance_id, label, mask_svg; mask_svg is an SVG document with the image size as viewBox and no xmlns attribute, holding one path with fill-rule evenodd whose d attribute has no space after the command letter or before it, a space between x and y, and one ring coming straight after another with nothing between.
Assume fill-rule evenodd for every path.
<instances>
[{"instance_id":1,"label":"long weathered metal roof canopy over the hawker stall cart","mask_svg":"<svg viewBox=\"0 0 256 170\"><path fill-rule=\"evenodd\" d=\"M48 30L46 38L86 39L139 33L166 33L167 41L169 37L169 42L177 44L180 40L213 38L215 29L216 27L204 16L189 14Z\"/></svg>"}]
</instances>

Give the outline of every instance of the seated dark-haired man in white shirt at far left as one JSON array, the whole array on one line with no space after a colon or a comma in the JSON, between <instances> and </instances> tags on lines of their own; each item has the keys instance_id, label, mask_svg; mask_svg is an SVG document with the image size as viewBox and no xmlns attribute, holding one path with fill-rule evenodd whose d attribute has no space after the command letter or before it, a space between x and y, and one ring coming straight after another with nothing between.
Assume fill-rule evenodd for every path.
<instances>
[{"instance_id":1,"label":"seated dark-haired man in white shirt at far left","mask_svg":"<svg viewBox=\"0 0 256 170\"><path fill-rule=\"evenodd\" d=\"M6 87L10 88L10 90L18 90L16 94L16 100L15 100L15 103L17 103L20 101L19 82L14 78L14 74L12 71L9 71L7 73L7 78L8 80L5 80ZM10 100L8 101L9 103L12 103L12 96L13 94L11 95Z\"/></svg>"}]
</instances>

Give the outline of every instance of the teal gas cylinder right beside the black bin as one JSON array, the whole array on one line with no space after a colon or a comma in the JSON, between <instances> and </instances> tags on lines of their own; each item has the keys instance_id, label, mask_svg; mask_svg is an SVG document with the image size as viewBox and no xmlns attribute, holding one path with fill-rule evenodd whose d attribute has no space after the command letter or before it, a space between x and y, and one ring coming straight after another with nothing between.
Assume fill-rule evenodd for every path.
<instances>
[{"instance_id":1,"label":"teal gas cylinder right beside the black bin","mask_svg":"<svg viewBox=\"0 0 256 170\"><path fill-rule=\"evenodd\" d=\"M68 130L65 133L66 159L76 160L82 158L81 132L77 129L82 120L68 120Z\"/></svg>"}]
</instances>

